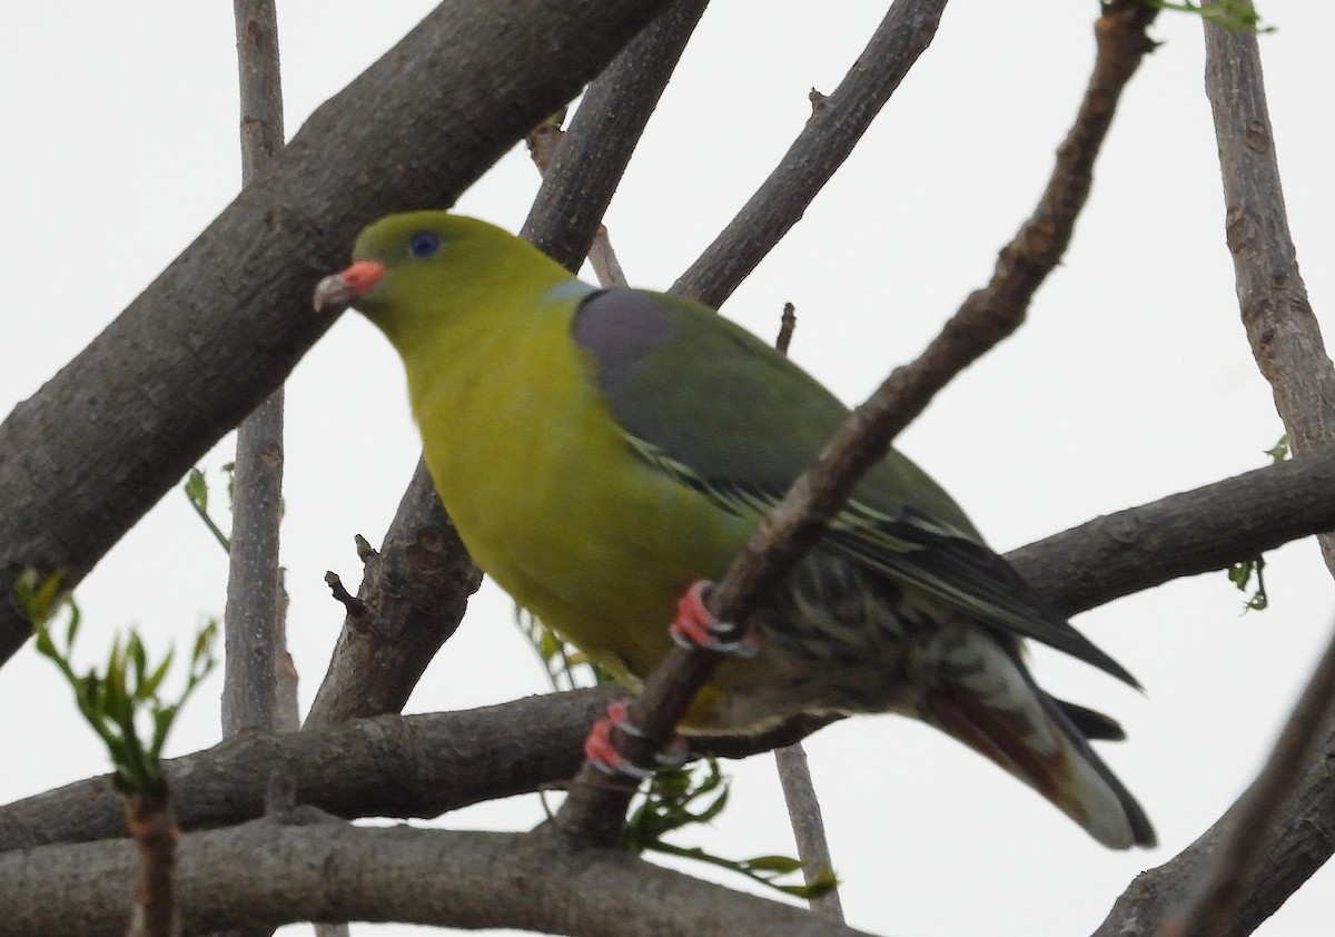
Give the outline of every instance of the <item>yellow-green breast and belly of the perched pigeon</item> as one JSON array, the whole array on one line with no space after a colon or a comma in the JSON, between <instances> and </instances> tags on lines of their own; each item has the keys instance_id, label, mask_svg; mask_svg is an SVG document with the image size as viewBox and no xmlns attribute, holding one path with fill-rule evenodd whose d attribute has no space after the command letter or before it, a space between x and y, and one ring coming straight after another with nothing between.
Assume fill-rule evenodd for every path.
<instances>
[{"instance_id":1,"label":"yellow-green breast and belly of the perched pigeon","mask_svg":"<svg viewBox=\"0 0 1335 937\"><path fill-rule=\"evenodd\" d=\"M613 673L643 677L682 591L722 575L750 525L634 455L573 312L566 298L461 323L446 354L409 364L413 408L478 565Z\"/></svg>"}]
</instances>

